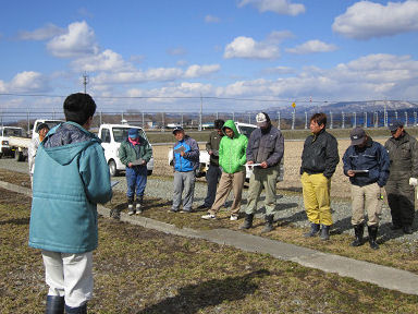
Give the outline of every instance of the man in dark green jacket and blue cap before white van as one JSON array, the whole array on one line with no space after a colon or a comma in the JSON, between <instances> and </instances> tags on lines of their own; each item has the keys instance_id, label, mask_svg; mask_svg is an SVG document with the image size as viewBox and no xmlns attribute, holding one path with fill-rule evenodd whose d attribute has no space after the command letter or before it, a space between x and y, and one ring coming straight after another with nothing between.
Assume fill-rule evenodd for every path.
<instances>
[{"instance_id":1,"label":"man in dark green jacket and blue cap before white van","mask_svg":"<svg viewBox=\"0 0 418 314\"><path fill-rule=\"evenodd\" d=\"M127 214L143 213L144 192L147 186L147 162L152 157L152 148L148 141L139 135L139 130L132 128L127 131L126 141L119 147L119 158L126 166ZM134 195L136 204L134 208Z\"/></svg>"}]
</instances>

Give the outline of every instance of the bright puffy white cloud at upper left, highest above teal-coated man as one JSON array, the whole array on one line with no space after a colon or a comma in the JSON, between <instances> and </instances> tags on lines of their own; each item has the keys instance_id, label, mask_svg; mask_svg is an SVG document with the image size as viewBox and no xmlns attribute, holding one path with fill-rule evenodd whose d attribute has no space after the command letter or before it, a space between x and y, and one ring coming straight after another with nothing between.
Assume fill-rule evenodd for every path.
<instances>
[{"instance_id":1,"label":"bright puffy white cloud at upper left, highest above teal-coated man","mask_svg":"<svg viewBox=\"0 0 418 314\"><path fill-rule=\"evenodd\" d=\"M59 58L83 57L99 51L95 32L84 21L70 24L65 34L47 44L47 49Z\"/></svg>"}]
</instances>

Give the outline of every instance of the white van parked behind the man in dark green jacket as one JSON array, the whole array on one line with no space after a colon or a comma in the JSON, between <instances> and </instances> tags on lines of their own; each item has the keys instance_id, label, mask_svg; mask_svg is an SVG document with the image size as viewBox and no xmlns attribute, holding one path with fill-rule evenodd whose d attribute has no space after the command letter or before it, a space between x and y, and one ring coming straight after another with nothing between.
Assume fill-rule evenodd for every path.
<instances>
[{"instance_id":1,"label":"white van parked behind the man in dark green jacket","mask_svg":"<svg viewBox=\"0 0 418 314\"><path fill-rule=\"evenodd\" d=\"M130 129L138 129L139 135L148 141L144 130L139 126L128 124L101 124L99 128L98 136L101 140L106 161L109 165L110 176L112 177L118 176L120 171L126 169L126 166L119 159L119 147L121 146L121 143L127 138L127 131ZM148 161L147 170L148 176L152 174L153 157Z\"/></svg>"}]
</instances>

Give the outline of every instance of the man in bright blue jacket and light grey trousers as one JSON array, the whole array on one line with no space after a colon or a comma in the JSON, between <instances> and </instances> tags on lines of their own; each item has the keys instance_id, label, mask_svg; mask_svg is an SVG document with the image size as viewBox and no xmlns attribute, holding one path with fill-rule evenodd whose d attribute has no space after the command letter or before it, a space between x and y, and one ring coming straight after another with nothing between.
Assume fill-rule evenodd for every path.
<instances>
[{"instance_id":1,"label":"man in bright blue jacket and light grey trousers","mask_svg":"<svg viewBox=\"0 0 418 314\"><path fill-rule=\"evenodd\" d=\"M199 166L199 146L195 140L184 133L181 126L175 128L173 134L177 142L173 147L174 195L173 206L170 210L173 213L180 210L184 191L182 212L190 213L195 193L195 170Z\"/></svg>"}]
</instances>

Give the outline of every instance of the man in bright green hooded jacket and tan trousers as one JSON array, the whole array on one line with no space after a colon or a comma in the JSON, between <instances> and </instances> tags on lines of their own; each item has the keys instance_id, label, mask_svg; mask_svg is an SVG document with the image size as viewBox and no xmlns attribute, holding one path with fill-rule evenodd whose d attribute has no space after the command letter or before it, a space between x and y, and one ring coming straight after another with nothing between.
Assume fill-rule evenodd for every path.
<instances>
[{"instance_id":1,"label":"man in bright green hooded jacket and tan trousers","mask_svg":"<svg viewBox=\"0 0 418 314\"><path fill-rule=\"evenodd\" d=\"M204 219L216 219L216 214L225 203L231 190L234 191L234 202L231 206L231 220L238 219L241 200L245 182L245 162L247 161L245 152L247 149L247 136L239 134L232 120L228 120L222 128L223 136L219 145L219 166L222 168L222 177L217 190L217 196L212 208Z\"/></svg>"}]
</instances>

